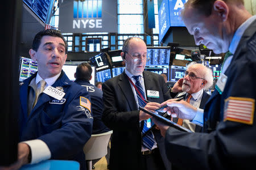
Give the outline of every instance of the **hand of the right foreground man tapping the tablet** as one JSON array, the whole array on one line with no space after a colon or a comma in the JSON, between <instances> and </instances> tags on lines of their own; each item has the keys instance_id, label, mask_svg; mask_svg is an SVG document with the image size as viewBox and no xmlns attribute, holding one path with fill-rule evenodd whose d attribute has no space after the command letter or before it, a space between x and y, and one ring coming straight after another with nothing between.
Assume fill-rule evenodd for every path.
<instances>
[{"instance_id":1,"label":"hand of the right foreground man tapping the tablet","mask_svg":"<svg viewBox=\"0 0 256 170\"><path fill-rule=\"evenodd\" d=\"M167 104L168 107L163 109L163 112L167 111L167 114L171 115L171 117L179 117L187 120L193 120L196 116L197 108L193 107L191 104L187 103L187 101L175 101L176 99L170 99L164 101L161 104Z\"/></svg>"}]
</instances>

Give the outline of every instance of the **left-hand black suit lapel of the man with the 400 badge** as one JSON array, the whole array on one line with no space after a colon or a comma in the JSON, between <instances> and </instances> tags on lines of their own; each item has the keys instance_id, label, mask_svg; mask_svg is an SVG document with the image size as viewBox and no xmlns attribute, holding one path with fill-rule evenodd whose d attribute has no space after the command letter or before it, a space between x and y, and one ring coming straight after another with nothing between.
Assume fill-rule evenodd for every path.
<instances>
[{"instance_id":1,"label":"left-hand black suit lapel of the man with the 400 badge","mask_svg":"<svg viewBox=\"0 0 256 170\"><path fill-rule=\"evenodd\" d=\"M119 81L118 81L118 86L123 92L123 96L125 96L127 103L130 106L131 111L136 111L137 108L137 103L136 100L134 99L134 94L133 90L131 89L130 82L128 80L128 76L125 74L125 71L121 74Z\"/></svg>"}]
</instances>

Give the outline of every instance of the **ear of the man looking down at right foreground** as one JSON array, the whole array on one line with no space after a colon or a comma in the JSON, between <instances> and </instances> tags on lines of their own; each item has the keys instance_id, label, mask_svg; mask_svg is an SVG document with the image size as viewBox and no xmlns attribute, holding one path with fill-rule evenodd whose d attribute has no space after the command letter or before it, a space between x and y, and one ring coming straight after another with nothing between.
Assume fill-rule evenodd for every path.
<instances>
[{"instance_id":1,"label":"ear of the man looking down at right foreground","mask_svg":"<svg viewBox=\"0 0 256 170\"><path fill-rule=\"evenodd\" d=\"M229 7L224 1L215 1L213 4L214 12L217 12L217 15L219 15L223 22L228 19L229 14Z\"/></svg>"}]
</instances>

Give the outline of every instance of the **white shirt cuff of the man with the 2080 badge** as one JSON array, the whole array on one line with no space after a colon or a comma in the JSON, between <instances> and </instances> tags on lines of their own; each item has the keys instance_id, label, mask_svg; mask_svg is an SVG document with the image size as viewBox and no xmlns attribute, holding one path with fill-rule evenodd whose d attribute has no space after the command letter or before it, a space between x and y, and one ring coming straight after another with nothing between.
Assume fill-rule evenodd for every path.
<instances>
[{"instance_id":1,"label":"white shirt cuff of the man with the 2080 badge","mask_svg":"<svg viewBox=\"0 0 256 170\"><path fill-rule=\"evenodd\" d=\"M51 151L49 150L46 143L39 139L31 140L31 141L24 141L22 143L26 143L30 146L31 149L31 163L35 164L39 163L43 160L47 160L51 158Z\"/></svg>"}]
</instances>

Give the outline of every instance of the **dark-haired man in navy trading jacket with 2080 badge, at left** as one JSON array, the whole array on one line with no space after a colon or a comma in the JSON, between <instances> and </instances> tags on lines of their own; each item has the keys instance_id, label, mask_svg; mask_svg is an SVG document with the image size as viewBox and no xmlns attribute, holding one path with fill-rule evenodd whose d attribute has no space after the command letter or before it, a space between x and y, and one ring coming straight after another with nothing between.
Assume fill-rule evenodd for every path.
<instances>
[{"instance_id":1,"label":"dark-haired man in navy trading jacket with 2080 badge, at left","mask_svg":"<svg viewBox=\"0 0 256 170\"><path fill-rule=\"evenodd\" d=\"M76 160L86 169L82 147L92 134L86 88L62 71L67 42L57 30L39 32L30 49L38 72L20 86L19 166L46 159Z\"/></svg>"}]
</instances>

